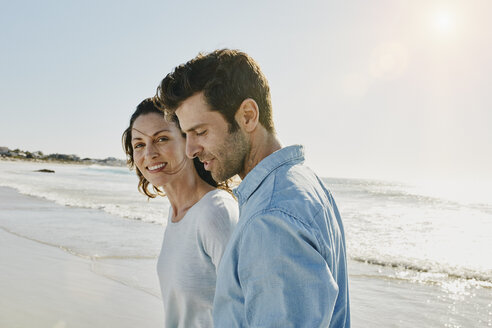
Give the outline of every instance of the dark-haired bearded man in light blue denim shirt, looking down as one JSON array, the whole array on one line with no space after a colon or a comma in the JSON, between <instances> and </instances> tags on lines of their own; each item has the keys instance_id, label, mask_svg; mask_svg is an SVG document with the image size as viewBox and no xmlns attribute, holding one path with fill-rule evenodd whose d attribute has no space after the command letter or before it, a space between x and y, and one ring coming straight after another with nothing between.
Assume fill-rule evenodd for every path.
<instances>
[{"instance_id":1,"label":"dark-haired bearded man in light blue denim shirt, looking down","mask_svg":"<svg viewBox=\"0 0 492 328\"><path fill-rule=\"evenodd\" d=\"M157 100L177 114L189 157L216 181L242 179L234 190L239 223L217 272L214 325L350 327L340 214L303 165L303 148L282 148L258 64L236 50L200 54L164 78Z\"/></svg>"}]
</instances>

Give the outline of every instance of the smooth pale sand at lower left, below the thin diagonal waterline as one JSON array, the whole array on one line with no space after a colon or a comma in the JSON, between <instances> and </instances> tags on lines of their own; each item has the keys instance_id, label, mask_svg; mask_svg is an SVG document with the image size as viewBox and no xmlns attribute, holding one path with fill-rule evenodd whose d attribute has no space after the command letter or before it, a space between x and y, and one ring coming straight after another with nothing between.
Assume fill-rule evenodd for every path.
<instances>
[{"instance_id":1,"label":"smooth pale sand at lower left, below the thin diagonal waterline","mask_svg":"<svg viewBox=\"0 0 492 328\"><path fill-rule=\"evenodd\" d=\"M0 326L159 327L161 300L107 279L93 263L0 229Z\"/></svg>"}]
</instances>

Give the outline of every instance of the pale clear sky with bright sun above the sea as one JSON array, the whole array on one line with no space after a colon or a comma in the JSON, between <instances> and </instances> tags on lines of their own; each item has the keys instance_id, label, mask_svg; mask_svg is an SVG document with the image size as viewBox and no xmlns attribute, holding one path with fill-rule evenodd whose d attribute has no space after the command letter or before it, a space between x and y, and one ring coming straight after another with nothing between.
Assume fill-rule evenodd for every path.
<instances>
[{"instance_id":1,"label":"pale clear sky with bright sun above the sea","mask_svg":"<svg viewBox=\"0 0 492 328\"><path fill-rule=\"evenodd\" d=\"M492 1L2 1L0 146L124 158L174 66L238 48L327 177L492 178Z\"/></svg>"}]
</instances>

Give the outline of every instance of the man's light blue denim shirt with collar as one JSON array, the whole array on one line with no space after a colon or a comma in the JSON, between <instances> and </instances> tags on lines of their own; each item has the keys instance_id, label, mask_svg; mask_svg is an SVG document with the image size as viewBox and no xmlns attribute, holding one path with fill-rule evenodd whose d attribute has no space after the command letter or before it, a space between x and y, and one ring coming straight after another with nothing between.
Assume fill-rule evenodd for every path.
<instances>
[{"instance_id":1,"label":"man's light blue denim shirt with collar","mask_svg":"<svg viewBox=\"0 0 492 328\"><path fill-rule=\"evenodd\" d=\"M263 159L234 194L239 223L217 273L214 326L350 327L345 236L302 146Z\"/></svg>"}]
</instances>

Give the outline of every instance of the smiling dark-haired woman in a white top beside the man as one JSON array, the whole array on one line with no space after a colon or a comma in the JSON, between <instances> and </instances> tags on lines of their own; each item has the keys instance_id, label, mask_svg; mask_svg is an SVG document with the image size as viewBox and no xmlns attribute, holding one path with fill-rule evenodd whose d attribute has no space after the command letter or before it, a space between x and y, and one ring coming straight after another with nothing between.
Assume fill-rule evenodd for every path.
<instances>
[{"instance_id":1,"label":"smiling dark-haired woman in a white top beside the man","mask_svg":"<svg viewBox=\"0 0 492 328\"><path fill-rule=\"evenodd\" d=\"M237 203L198 159L186 157L177 118L166 119L152 99L138 105L123 145L139 190L171 203L157 263L165 327L212 327L216 270L238 220Z\"/></svg>"}]
</instances>

